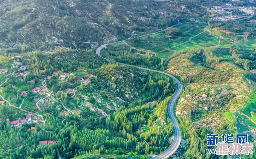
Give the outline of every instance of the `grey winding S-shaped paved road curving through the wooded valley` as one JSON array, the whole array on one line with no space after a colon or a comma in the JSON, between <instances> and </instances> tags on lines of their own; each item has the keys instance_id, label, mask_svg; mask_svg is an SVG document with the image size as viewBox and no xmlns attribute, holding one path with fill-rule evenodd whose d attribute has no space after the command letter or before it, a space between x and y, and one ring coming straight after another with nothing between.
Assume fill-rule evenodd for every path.
<instances>
[{"instance_id":1,"label":"grey winding S-shaped paved road curving through the wooded valley","mask_svg":"<svg viewBox=\"0 0 256 159\"><path fill-rule=\"evenodd\" d=\"M184 22L184 23L180 23L180 24L177 24L177 25L186 24L186 23L192 23L192 22ZM172 27L175 27L177 25L173 25ZM145 34L145 35L142 35L142 36L139 36L139 37L144 37L144 36L156 34L156 33L162 32L162 31L165 31L165 29L163 29L161 31L154 32L154 33L150 33L150 34ZM134 38L138 38L138 37L128 38L126 40L117 41L117 42L113 42L113 43L110 43L110 44L103 44L102 46L97 48L96 54L98 56L102 57L100 55L100 51L103 48L105 48L107 45L121 43L121 42L128 41L128 40L131 40L131 39L134 39ZM102 58L104 58L104 57L102 57ZM104 58L104 59L106 59L106 58ZM106 60L110 61L110 59L106 59ZM124 63L120 63L120 62L118 62L118 63L119 64L123 64L123 65L128 65L128 64L124 64ZM172 120L174 129L175 129L175 136L174 136L174 139L172 140L172 143L171 143L170 147L168 147L168 149L166 149L161 154L159 154L157 156L154 156L152 158L152 159L167 159L169 156L172 156L172 154L175 153L175 151L178 149L178 147L179 147L179 145L181 143L181 130L179 128L179 125L178 125L178 123L177 123L177 121L175 119L174 113L173 113L173 110L174 110L173 106L174 106L175 101L177 100L177 98L180 95L181 90L182 90L181 82L177 78L175 78L174 76L172 76L172 75L170 75L168 73L162 72L162 71L158 71L158 70L154 70L154 69L148 69L148 68L144 68L144 67L140 67L140 66L136 66L136 65L128 65L128 66L133 66L133 67L136 67L138 69L143 69L143 70L147 70L147 71L151 71L151 72L157 72L157 73L160 73L160 74L163 74L163 75L167 75L167 76L173 78L173 80L177 82L178 89L176 90L174 96L172 97L172 99L168 103L168 114L169 114L169 116L170 116L170 118Z\"/></svg>"}]
</instances>

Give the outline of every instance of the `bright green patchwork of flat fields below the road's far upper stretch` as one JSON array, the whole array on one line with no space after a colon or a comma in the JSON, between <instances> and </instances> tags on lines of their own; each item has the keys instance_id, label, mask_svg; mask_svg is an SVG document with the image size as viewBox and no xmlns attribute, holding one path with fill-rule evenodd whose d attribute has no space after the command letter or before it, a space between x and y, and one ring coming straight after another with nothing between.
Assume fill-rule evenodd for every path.
<instances>
[{"instance_id":1,"label":"bright green patchwork of flat fields below the road's far upper stretch","mask_svg":"<svg viewBox=\"0 0 256 159\"><path fill-rule=\"evenodd\" d=\"M256 47L256 40L249 38L246 41L242 35L227 34L221 31L210 31L206 27L206 23L190 23L178 25L178 28L183 33L182 37L172 38L165 35L164 32L153 34L146 37L141 37L134 41L137 49L150 50L154 53L159 53L161 58L171 56L169 50L183 51L188 49L202 48L230 48L230 47ZM205 32L204 32L205 31ZM221 36L221 39L219 39ZM238 40L234 40L237 39ZM166 50L166 51L165 51ZM227 58L227 57L225 57ZM231 59L228 59L230 62Z\"/></svg>"}]
</instances>

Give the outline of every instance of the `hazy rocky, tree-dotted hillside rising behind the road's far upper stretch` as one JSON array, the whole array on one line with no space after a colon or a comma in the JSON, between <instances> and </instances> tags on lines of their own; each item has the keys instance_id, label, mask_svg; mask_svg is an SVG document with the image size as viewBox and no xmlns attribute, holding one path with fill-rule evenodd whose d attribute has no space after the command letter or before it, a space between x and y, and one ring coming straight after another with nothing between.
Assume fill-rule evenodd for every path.
<instances>
[{"instance_id":1,"label":"hazy rocky, tree-dotted hillside rising behind the road's far upper stretch","mask_svg":"<svg viewBox=\"0 0 256 159\"><path fill-rule=\"evenodd\" d=\"M7 52L18 53L94 47L97 43L166 28L178 21L200 19L203 10L190 5L117 0L2 0L0 43Z\"/></svg>"}]
</instances>

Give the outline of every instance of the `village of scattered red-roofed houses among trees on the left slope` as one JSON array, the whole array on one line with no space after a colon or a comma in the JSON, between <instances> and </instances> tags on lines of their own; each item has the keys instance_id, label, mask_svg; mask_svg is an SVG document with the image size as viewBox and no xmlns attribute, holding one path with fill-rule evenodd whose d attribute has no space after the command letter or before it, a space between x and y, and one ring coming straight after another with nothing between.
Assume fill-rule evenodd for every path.
<instances>
[{"instance_id":1,"label":"village of scattered red-roofed houses among trees on the left slope","mask_svg":"<svg viewBox=\"0 0 256 159\"><path fill-rule=\"evenodd\" d=\"M67 78L70 76L74 76L74 74L72 73L62 73L58 70L56 70L56 72L52 72L51 74L47 75L47 71L45 69L39 69L38 72L29 69L30 64L24 64L22 62L19 62L19 59L16 60L14 59L13 64L11 65L11 68L3 68L0 69L0 74L6 75L5 76L5 80L0 83L1 86L6 83L10 77L13 78L16 81L19 81L20 79L27 79L29 78L29 80L26 80L27 82L27 87L32 87L31 90L25 89L19 89L17 92L17 97L21 97L22 98L22 103L19 106L19 109L22 109L22 104L24 102L24 100L28 99L29 97L33 97L34 95L40 95L40 96L45 96L43 99L37 101L37 103L35 104L39 111L41 111L41 108L39 107L39 102L42 101L43 104L46 104L45 102L47 102L46 98L51 98L50 96L59 96L59 94L61 92L69 95L70 97L73 97L75 95L76 90L74 88L68 87L65 88L63 90L58 90L56 92L56 94L53 94L52 90L49 90L47 88L47 82L49 82L51 79L55 79L56 81L66 84L69 86L72 86L73 83L68 82ZM30 76L34 77L31 78ZM39 79L37 78L39 77ZM93 75L89 75L88 78L85 78L84 76L75 76L75 80L74 83L81 83L81 84L89 84L90 83L90 78L94 77ZM12 89L16 89L16 85L12 85ZM9 105L9 103L6 103L6 100L4 100L2 98L2 100L0 100L0 105ZM64 105L63 105L64 106ZM23 109L22 109L23 110ZM69 109L67 109L65 107L64 109L65 111L63 111L63 115L64 116L69 116L71 114L71 111ZM28 125L38 125L39 122L45 122L46 121L42 121L42 116L39 115L40 118L37 118L37 113L32 113L29 115L25 115L25 117L19 117L16 118L16 120L13 121L9 121L10 127L12 128L18 128L20 131L24 128L24 124L27 123ZM44 130L44 128L42 128L41 130ZM30 126L27 130L27 132L30 131L37 131L36 127L34 126ZM51 131L47 131L47 132L51 132ZM52 145L56 145L56 140L42 140L39 141L38 145L47 145L47 144L52 144Z\"/></svg>"}]
</instances>

